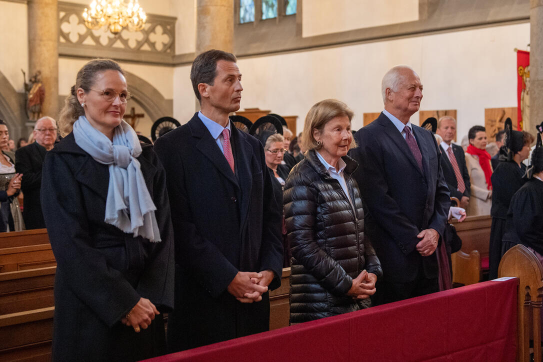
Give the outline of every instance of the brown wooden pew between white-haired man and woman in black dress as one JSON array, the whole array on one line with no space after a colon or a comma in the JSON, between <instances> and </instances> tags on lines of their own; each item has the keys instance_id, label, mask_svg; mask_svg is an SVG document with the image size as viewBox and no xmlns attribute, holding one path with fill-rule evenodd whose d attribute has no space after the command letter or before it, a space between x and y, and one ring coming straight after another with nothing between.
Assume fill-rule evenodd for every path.
<instances>
[{"instance_id":1,"label":"brown wooden pew between white-haired man and woman in black dress","mask_svg":"<svg viewBox=\"0 0 543 362\"><path fill-rule=\"evenodd\" d=\"M462 239L462 249L451 256L453 283L477 283L482 280L483 271L488 270L492 218L490 215L469 216L462 223L453 220L452 224Z\"/></svg>"}]
</instances>

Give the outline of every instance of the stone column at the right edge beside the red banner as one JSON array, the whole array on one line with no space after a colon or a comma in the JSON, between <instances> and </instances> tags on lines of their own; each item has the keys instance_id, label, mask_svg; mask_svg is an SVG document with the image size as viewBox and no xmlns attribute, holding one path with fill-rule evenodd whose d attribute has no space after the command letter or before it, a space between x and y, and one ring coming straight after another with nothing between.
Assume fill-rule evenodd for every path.
<instances>
[{"instance_id":1,"label":"stone column at the right edge beside the red banner","mask_svg":"<svg viewBox=\"0 0 543 362\"><path fill-rule=\"evenodd\" d=\"M530 0L530 117L523 125L535 135L543 120L543 0Z\"/></svg>"}]
</instances>

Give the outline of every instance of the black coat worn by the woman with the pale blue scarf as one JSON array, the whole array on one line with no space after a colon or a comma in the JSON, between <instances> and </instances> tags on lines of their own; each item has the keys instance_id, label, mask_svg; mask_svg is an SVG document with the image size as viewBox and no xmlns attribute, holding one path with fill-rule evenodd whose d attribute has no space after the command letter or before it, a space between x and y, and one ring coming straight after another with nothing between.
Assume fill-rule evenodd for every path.
<instances>
[{"instance_id":1,"label":"black coat worn by the woman with the pale blue scarf","mask_svg":"<svg viewBox=\"0 0 543 362\"><path fill-rule=\"evenodd\" d=\"M68 135L43 164L41 201L55 255L53 360L130 360L165 353L163 321L135 333L122 317L140 300L173 308L174 245L165 173L150 146L137 157L157 207L160 243L104 222L109 167ZM162 331L160 329L162 328ZM119 353L117 355L116 353Z\"/></svg>"}]
</instances>

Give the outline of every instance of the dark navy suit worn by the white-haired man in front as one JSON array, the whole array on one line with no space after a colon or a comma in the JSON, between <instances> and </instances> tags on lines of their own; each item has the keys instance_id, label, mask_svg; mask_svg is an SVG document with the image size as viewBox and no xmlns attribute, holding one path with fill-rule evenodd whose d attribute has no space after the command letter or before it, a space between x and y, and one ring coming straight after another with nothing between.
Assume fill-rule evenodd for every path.
<instances>
[{"instance_id":1,"label":"dark navy suit worn by the white-haired man in front","mask_svg":"<svg viewBox=\"0 0 543 362\"><path fill-rule=\"evenodd\" d=\"M438 277L436 253L421 256L415 248L420 242L416 236L427 228L443 236L451 206L434 136L416 125L413 135L424 172L401 132L383 113L356 132L358 147L350 153L360 164L354 176L369 209L366 231L381 261L383 279L392 283L411 282L419 270L426 278Z\"/></svg>"}]
</instances>

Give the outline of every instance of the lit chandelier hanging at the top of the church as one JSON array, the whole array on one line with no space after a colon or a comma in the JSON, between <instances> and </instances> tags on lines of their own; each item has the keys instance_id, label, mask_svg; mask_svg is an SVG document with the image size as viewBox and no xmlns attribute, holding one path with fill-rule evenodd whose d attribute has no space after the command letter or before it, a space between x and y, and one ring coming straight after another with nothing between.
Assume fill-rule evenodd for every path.
<instances>
[{"instance_id":1,"label":"lit chandelier hanging at the top of the church","mask_svg":"<svg viewBox=\"0 0 543 362\"><path fill-rule=\"evenodd\" d=\"M147 15L138 4L138 0L93 0L85 8L83 19L89 29L109 28L112 34L118 34L123 28L130 31L143 29Z\"/></svg>"}]
</instances>

